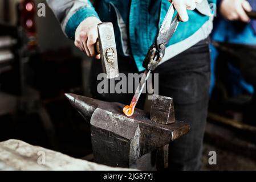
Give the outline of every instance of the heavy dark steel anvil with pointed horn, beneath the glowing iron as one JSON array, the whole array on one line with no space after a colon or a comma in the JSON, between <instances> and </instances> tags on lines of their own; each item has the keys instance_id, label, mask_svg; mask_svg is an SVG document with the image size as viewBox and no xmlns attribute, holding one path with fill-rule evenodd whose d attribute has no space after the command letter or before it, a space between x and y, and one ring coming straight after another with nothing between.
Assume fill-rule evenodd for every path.
<instances>
[{"instance_id":1,"label":"heavy dark steel anvil with pointed horn, beneath the glowing iron","mask_svg":"<svg viewBox=\"0 0 256 182\"><path fill-rule=\"evenodd\" d=\"M115 167L136 167L144 154L188 133L189 125L152 122L143 110L126 117L123 104L66 94L71 105L91 124L92 150L96 163Z\"/></svg>"}]
</instances>

